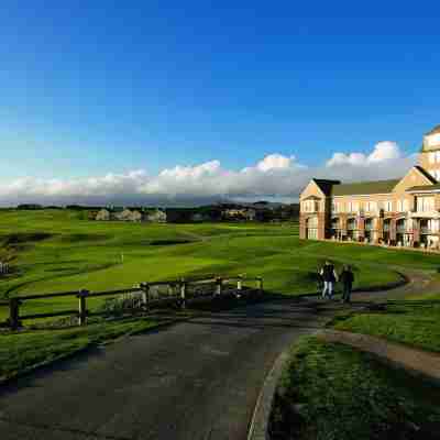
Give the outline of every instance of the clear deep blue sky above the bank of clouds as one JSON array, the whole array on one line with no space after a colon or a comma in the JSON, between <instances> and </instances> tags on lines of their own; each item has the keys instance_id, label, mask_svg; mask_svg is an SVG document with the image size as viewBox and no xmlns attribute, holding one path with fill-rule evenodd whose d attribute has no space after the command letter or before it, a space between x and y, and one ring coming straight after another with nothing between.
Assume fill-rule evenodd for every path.
<instances>
[{"instance_id":1,"label":"clear deep blue sky above the bank of clouds","mask_svg":"<svg viewBox=\"0 0 440 440\"><path fill-rule=\"evenodd\" d=\"M440 123L436 3L19 3L0 14L2 182L407 155Z\"/></svg>"}]
</instances>

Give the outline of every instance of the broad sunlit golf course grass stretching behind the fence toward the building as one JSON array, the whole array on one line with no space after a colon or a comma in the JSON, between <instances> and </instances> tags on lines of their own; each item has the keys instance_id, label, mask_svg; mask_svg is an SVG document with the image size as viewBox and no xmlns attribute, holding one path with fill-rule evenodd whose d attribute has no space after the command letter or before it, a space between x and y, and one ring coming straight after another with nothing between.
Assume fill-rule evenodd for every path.
<instances>
[{"instance_id":1,"label":"broad sunlit golf course grass stretching behind the fence toward the building","mask_svg":"<svg viewBox=\"0 0 440 440\"><path fill-rule=\"evenodd\" d=\"M436 255L301 241L294 223L96 222L68 210L0 211L0 258L12 258L15 271L0 279L0 298L212 274L261 275L266 289L296 295L316 290L326 258L337 267L352 264L355 287L398 280L395 266L435 271L439 265ZM28 304L23 312L76 307L74 298L58 298ZM0 308L0 320L6 312Z\"/></svg>"}]
</instances>

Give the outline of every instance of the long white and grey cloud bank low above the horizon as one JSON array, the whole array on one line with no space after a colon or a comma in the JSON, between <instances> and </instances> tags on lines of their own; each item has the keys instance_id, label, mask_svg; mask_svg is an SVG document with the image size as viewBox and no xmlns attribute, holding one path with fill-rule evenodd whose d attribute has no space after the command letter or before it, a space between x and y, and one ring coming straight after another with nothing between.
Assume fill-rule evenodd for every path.
<instances>
[{"instance_id":1,"label":"long white and grey cloud bank low above the horizon","mask_svg":"<svg viewBox=\"0 0 440 440\"><path fill-rule=\"evenodd\" d=\"M177 165L150 175L144 169L80 179L19 178L0 186L0 205L151 204L197 205L224 199L296 200L312 177L343 182L396 178L415 164L395 142L380 142L370 154L337 152L326 163L306 166L295 156L270 154L253 166L233 170L219 161Z\"/></svg>"}]
</instances>

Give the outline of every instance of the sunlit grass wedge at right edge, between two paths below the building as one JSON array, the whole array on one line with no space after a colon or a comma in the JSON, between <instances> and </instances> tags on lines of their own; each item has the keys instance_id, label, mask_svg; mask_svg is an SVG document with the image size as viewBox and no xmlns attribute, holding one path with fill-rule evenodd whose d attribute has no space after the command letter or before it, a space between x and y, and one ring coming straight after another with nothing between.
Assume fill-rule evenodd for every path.
<instances>
[{"instance_id":1,"label":"sunlit grass wedge at right edge, between two paths below the building","mask_svg":"<svg viewBox=\"0 0 440 440\"><path fill-rule=\"evenodd\" d=\"M440 352L440 295L388 301L384 311L349 312L337 317L337 330L366 333Z\"/></svg>"}]
</instances>

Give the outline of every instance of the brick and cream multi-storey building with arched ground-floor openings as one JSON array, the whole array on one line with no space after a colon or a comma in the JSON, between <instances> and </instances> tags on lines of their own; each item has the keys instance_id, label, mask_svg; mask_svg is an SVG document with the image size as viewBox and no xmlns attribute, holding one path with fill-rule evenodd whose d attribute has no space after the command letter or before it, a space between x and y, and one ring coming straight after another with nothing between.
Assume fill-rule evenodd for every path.
<instances>
[{"instance_id":1,"label":"brick and cream multi-storey building with arched ground-floor openings","mask_svg":"<svg viewBox=\"0 0 440 440\"><path fill-rule=\"evenodd\" d=\"M300 195L301 239L440 249L440 125L400 179L312 179Z\"/></svg>"}]
</instances>

